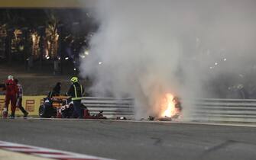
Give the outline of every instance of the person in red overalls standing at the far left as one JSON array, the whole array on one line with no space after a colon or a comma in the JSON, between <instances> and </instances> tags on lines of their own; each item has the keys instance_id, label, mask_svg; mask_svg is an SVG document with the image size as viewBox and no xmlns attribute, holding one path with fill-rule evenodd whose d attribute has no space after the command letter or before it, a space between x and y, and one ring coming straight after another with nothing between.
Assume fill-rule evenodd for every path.
<instances>
[{"instance_id":1,"label":"person in red overalls standing at the far left","mask_svg":"<svg viewBox=\"0 0 256 160\"><path fill-rule=\"evenodd\" d=\"M12 75L8 75L8 80L5 81L5 89L5 108L3 117L8 117L8 106L11 101L11 118L15 118L18 87Z\"/></svg>"}]
</instances>

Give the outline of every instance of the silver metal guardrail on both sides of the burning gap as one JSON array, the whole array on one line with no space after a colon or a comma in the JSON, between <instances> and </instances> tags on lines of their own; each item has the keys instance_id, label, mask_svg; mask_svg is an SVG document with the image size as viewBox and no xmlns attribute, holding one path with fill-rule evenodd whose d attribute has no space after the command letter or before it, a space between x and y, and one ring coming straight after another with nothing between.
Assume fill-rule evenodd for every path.
<instances>
[{"instance_id":1,"label":"silver metal guardrail on both sides of the burning gap","mask_svg":"<svg viewBox=\"0 0 256 160\"><path fill-rule=\"evenodd\" d=\"M91 114L97 114L102 110L108 118L134 118L134 99L132 98L84 97L82 103L88 107ZM186 104L183 108L184 120L256 123L256 100L253 99L196 99L184 101L184 104Z\"/></svg>"}]
</instances>

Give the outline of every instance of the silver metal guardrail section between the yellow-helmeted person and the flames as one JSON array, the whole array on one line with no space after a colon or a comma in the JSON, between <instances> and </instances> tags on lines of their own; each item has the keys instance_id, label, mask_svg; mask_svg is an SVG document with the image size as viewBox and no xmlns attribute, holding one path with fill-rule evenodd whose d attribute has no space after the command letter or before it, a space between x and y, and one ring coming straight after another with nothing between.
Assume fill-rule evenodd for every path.
<instances>
[{"instance_id":1,"label":"silver metal guardrail section between the yellow-helmeted person and the flames","mask_svg":"<svg viewBox=\"0 0 256 160\"><path fill-rule=\"evenodd\" d=\"M103 111L103 115L108 118L126 117L134 118L132 98L96 98L84 97L82 103L90 110L90 114L98 114Z\"/></svg>"}]
</instances>

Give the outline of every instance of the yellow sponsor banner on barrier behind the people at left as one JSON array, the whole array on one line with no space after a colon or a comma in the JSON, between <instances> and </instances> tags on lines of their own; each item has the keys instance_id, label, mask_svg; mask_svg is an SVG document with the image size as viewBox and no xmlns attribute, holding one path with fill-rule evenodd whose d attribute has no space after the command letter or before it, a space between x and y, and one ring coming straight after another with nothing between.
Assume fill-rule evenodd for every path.
<instances>
[{"instance_id":1,"label":"yellow sponsor banner on barrier behind the people at left","mask_svg":"<svg viewBox=\"0 0 256 160\"><path fill-rule=\"evenodd\" d=\"M28 111L29 116L38 116L38 110L39 106L43 103L43 100L46 96L41 95L41 96L23 96L22 97L22 106L24 107L25 110ZM3 108L5 107L5 96L0 95L0 110L2 111ZM11 113L11 103L9 104L8 107L8 114ZM21 110L16 107L16 116L23 116Z\"/></svg>"}]
</instances>

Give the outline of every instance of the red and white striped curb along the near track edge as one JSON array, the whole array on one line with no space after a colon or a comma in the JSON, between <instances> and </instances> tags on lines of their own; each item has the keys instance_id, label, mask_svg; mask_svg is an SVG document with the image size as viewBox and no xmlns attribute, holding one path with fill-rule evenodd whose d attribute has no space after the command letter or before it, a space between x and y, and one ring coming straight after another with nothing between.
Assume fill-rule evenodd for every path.
<instances>
[{"instance_id":1,"label":"red and white striped curb along the near track edge","mask_svg":"<svg viewBox=\"0 0 256 160\"><path fill-rule=\"evenodd\" d=\"M58 160L111 160L92 155L83 155L73 152L65 152L56 149L45 149L36 146L21 145L13 142L0 141L0 149L11 152L20 152L27 155L35 155L42 158L53 158Z\"/></svg>"}]
</instances>

